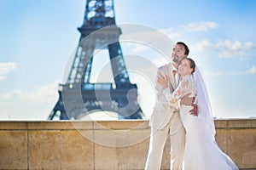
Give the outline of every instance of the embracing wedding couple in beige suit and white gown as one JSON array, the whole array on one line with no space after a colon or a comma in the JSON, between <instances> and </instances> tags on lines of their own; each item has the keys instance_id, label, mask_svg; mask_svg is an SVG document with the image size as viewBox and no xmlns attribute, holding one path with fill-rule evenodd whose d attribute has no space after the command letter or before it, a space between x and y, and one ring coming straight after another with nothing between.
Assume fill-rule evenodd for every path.
<instances>
[{"instance_id":1,"label":"embracing wedding couple in beige suit and white gown","mask_svg":"<svg viewBox=\"0 0 256 170\"><path fill-rule=\"evenodd\" d=\"M160 170L168 136L172 170L238 170L215 141L207 87L188 55L188 46L177 42L172 49L172 62L158 70L157 103L149 119L151 134L145 170Z\"/></svg>"}]
</instances>

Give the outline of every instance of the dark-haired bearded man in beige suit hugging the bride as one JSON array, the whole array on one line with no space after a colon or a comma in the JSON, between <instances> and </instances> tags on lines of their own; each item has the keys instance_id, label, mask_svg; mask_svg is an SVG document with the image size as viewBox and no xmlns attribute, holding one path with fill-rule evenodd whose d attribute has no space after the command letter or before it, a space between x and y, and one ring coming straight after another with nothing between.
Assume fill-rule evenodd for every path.
<instances>
[{"instance_id":1,"label":"dark-haired bearded man in beige suit hugging the bride","mask_svg":"<svg viewBox=\"0 0 256 170\"><path fill-rule=\"evenodd\" d=\"M171 140L171 167L172 170L181 170L183 164L183 155L185 148L185 130L181 121L178 105L171 105L163 93L165 88L170 88L172 93L179 82L177 66L182 59L189 55L189 48L184 42L177 42L172 49L172 62L168 65L163 65L159 68L157 74L157 90L156 104L154 111L149 119L151 127L150 142L148 149L148 158L146 161L145 170L160 170L161 160L163 155L166 139L170 136ZM162 82L166 82L166 87L161 86ZM193 99L186 95L180 101L183 105L191 105ZM193 105L194 109L190 114L197 115L197 106Z\"/></svg>"}]
</instances>

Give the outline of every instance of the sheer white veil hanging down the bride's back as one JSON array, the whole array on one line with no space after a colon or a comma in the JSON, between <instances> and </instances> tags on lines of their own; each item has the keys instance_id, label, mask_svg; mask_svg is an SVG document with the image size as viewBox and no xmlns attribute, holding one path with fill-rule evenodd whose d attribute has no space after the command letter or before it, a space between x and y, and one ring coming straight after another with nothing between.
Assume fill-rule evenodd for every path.
<instances>
[{"instance_id":1,"label":"sheer white veil hanging down the bride's back","mask_svg":"<svg viewBox=\"0 0 256 170\"><path fill-rule=\"evenodd\" d=\"M202 118L205 122L206 131L215 140L215 126L212 117L212 108L208 96L206 82L201 73L201 69L196 65L195 73L193 74L195 78L196 85L196 105L198 106L198 117Z\"/></svg>"}]
</instances>

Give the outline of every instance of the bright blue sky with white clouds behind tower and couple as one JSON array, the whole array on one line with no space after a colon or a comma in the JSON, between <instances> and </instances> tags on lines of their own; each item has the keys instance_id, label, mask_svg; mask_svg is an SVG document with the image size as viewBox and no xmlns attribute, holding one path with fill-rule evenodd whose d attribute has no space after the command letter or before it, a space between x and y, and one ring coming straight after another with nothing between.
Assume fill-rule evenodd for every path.
<instances>
[{"instance_id":1,"label":"bright blue sky with white clouds behind tower and couple","mask_svg":"<svg viewBox=\"0 0 256 170\"><path fill-rule=\"evenodd\" d=\"M116 0L114 5L118 25L150 26L189 45L189 56L205 73L214 116L256 116L256 1ZM79 42L84 6L85 0L0 1L0 119L49 116ZM143 54L158 66L167 62L134 46L124 45L123 53ZM138 79L131 73L149 116L154 98L147 82Z\"/></svg>"}]
</instances>

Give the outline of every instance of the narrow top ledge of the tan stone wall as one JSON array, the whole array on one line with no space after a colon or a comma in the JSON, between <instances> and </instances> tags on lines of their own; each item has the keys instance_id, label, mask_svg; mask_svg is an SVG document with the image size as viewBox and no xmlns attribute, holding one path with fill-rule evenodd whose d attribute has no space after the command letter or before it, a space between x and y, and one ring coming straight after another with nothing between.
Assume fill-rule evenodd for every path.
<instances>
[{"instance_id":1,"label":"narrow top ledge of the tan stone wall","mask_svg":"<svg viewBox=\"0 0 256 170\"><path fill-rule=\"evenodd\" d=\"M256 119L216 119L216 128L256 127ZM0 121L0 130L145 129L148 120L120 121Z\"/></svg>"}]
</instances>

